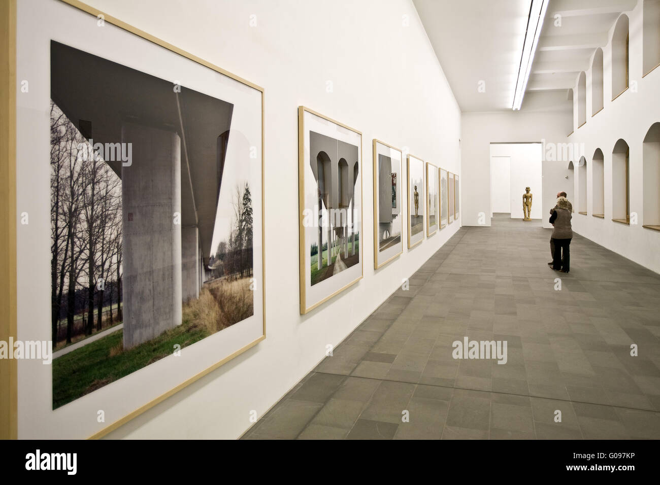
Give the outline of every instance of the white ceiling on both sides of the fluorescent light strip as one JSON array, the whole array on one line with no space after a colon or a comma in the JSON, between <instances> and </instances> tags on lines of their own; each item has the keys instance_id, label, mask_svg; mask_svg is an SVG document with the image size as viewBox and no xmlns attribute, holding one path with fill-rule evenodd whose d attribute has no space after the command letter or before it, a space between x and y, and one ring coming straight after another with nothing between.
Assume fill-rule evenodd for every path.
<instances>
[{"instance_id":1,"label":"white ceiling on both sides of the fluorescent light strip","mask_svg":"<svg viewBox=\"0 0 660 485\"><path fill-rule=\"evenodd\" d=\"M413 3L461 110L511 110L531 0ZM607 44L616 18L636 3L550 0L522 109L528 108L528 98L566 100L579 72L589 69L593 51ZM561 26L554 25L555 15L561 16ZM480 81L485 92L479 92Z\"/></svg>"}]
</instances>

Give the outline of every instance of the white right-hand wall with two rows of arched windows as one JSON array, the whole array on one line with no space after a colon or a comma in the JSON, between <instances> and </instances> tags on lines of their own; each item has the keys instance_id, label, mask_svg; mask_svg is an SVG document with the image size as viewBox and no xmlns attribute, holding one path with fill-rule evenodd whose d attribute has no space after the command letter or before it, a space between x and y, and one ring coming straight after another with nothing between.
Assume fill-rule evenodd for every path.
<instances>
[{"instance_id":1,"label":"white right-hand wall with two rows of arched windows","mask_svg":"<svg viewBox=\"0 0 660 485\"><path fill-rule=\"evenodd\" d=\"M660 158L657 156L657 152L653 154L653 150L647 150L647 156L644 157L643 143L651 125L660 121L660 67L649 73L647 71L651 67L648 63L646 68L644 67L645 42L649 44L649 37L653 42L657 42L658 39L660 15L657 8L657 0L640 0L632 11L622 14L628 16L630 29L629 88L614 100L612 98L619 93L612 93L612 35L614 34L614 26L612 26L608 43L602 46L603 109L595 115L591 114L594 111L592 90L599 90L598 84L594 85L594 81L599 79L599 75L597 73L594 75L592 69L589 69L586 71L586 123L578 128L578 100L576 97L575 131L569 139L572 143L583 147L586 160L586 170L578 170L578 156L574 160L576 166L574 191L578 195L576 197L578 205L574 204L576 214L572 221L573 230L607 249L660 273L660 232L642 227L645 220L644 198L657 202L660 191L660 178L657 177L657 172L655 179L653 176L649 176L649 172L647 172L647 177L644 175L644 166L657 167L660 164ZM623 20L625 22L625 19ZM651 56L655 55L657 59L657 46L655 53L649 51L649 48L646 53L647 55L650 53ZM591 59L593 60L593 55ZM644 75L645 73L647 74ZM578 79L576 79L574 89L578 89ZM612 152L620 139L623 139L630 148L630 225L612 221L612 218L616 217L613 215L613 209L617 203L616 199L618 199L618 197L613 197L612 187L618 187L622 182L622 178L616 176L616 173L612 171L614 158ZM649 144L646 145L649 147ZM599 166L594 165L593 162L593 155L597 148L603 152L602 178ZM594 170L595 166L597 170ZM580 179L580 176L585 176L586 183L585 180ZM602 189L599 187L601 180L603 180ZM465 180L465 182L465 185L469 184L469 181ZM622 186L624 185L623 181ZM586 204L584 200L579 200L580 195L584 195L585 192L583 187L586 187ZM605 199L604 218L593 216L600 212L599 207L594 207L594 199L599 201L601 192ZM587 214L578 214L578 207L585 207ZM637 224L634 224L634 213Z\"/></svg>"}]
</instances>

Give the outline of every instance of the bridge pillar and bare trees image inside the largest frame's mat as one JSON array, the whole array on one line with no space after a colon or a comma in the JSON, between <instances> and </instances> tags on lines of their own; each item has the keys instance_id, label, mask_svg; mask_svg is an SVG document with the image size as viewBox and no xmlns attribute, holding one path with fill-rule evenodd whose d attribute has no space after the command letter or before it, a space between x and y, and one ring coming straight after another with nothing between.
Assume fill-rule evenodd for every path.
<instances>
[{"instance_id":1,"label":"bridge pillar and bare trees image inside the largest frame's mat","mask_svg":"<svg viewBox=\"0 0 660 485\"><path fill-rule=\"evenodd\" d=\"M233 102L49 47L55 409L255 315L261 161Z\"/></svg>"}]
</instances>

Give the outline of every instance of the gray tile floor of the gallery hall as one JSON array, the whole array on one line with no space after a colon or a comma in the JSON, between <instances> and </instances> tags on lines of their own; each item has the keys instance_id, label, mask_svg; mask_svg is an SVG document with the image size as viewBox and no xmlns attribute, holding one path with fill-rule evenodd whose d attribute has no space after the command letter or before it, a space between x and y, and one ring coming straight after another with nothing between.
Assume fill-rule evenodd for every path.
<instances>
[{"instance_id":1,"label":"gray tile floor of the gallery hall","mask_svg":"<svg viewBox=\"0 0 660 485\"><path fill-rule=\"evenodd\" d=\"M578 235L555 273L549 238L461 228L244 439L660 438L660 275ZM464 337L506 364L455 360Z\"/></svg>"}]
</instances>

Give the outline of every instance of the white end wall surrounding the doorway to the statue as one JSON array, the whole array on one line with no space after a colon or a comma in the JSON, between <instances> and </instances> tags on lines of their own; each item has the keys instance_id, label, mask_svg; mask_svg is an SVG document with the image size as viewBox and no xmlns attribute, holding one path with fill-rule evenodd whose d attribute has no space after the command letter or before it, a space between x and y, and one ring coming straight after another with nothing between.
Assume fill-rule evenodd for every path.
<instances>
[{"instance_id":1,"label":"white end wall surrounding the doorway to the statue","mask_svg":"<svg viewBox=\"0 0 660 485\"><path fill-rule=\"evenodd\" d=\"M479 96L479 94L475 93L475 96ZM527 110L529 106L536 106L537 101L540 102L541 108ZM535 100L533 95L527 93L521 111L463 113L461 117L461 170L463 171L461 217L464 226L490 226L490 213L493 212L490 209L490 143L543 141L541 145L543 197L534 199L537 207L541 206L539 207L541 214L547 214L554 207L557 192L566 190L568 193L565 188L568 185L566 177L572 175L572 171L568 170L568 160L546 160L546 158L556 158L546 156L550 146L568 143L566 126L570 124L571 113L570 105L568 110L564 106L564 103L548 104ZM560 150L560 152L563 151ZM522 206L522 193L520 200ZM534 205L533 209L535 209ZM542 220L543 227L552 227L548 218L543 216Z\"/></svg>"}]
</instances>

